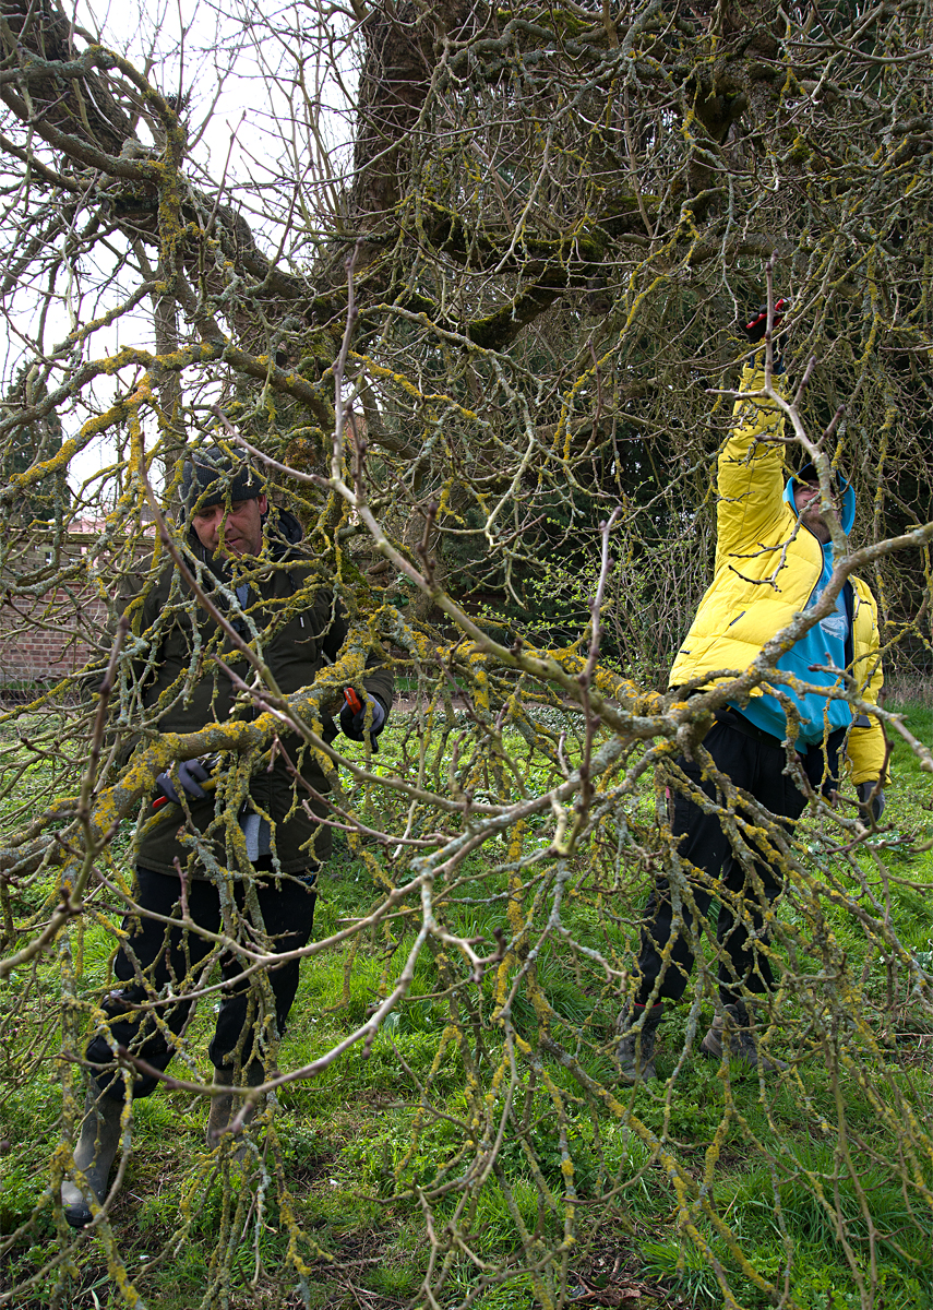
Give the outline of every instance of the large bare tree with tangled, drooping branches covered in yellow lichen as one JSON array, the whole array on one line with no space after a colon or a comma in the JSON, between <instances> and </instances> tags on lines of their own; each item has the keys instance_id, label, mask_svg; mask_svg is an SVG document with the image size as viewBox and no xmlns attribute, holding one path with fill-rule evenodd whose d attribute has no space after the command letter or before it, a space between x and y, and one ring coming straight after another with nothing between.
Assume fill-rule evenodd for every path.
<instances>
[{"instance_id":1,"label":"large bare tree with tangled, drooping branches covered in yellow lichen","mask_svg":"<svg viewBox=\"0 0 933 1310\"><path fill-rule=\"evenodd\" d=\"M373 880L354 931L396 934L410 955L397 976L387 965L354 1036L371 1043L404 1006L427 952L449 1013L419 1093L425 1123L444 1114L446 1044L466 1089L444 1167L417 1182L396 1171L430 1233L415 1303L466 1306L519 1275L541 1305L563 1303L578 1205L624 1209L628 1186L622 1163L603 1169L601 1191L577 1189L567 1096L596 1124L624 1124L666 1171L725 1303L736 1279L799 1303L777 1267L750 1263L668 1127L622 1104L605 1015L628 986L645 882L677 865L664 802L675 744L689 749L729 698L685 702L666 673L712 572L715 456L750 354L738 328L778 295L790 310L768 348L785 367L789 466L826 455L847 470L858 515L840 586L854 570L871 583L888 679L929 676L932 50L925 0L235 0L183 26L140 10L132 31L58 0L0 0L4 604L51 597L67 613L67 597L93 595L109 617L81 668L37 672L4 714L0 976L63 967L75 925L119 908L124 834L173 758L229 751L248 777L283 714L321 749L339 677L380 643L408 689L406 727L379 765L325 758L334 821ZM118 596L127 576L151 580L153 550L152 569L183 555L181 466L208 441L249 452L301 519L352 650L287 703L259 655L244 693L259 719L169 740L142 714L140 634L117 627ZM77 555L69 527L90 533ZM780 681L777 652L734 671L740 692ZM929 770L929 743L882 714ZM56 749L26 812L18 781ZM236 806L235 791L219 795L232 827ZM878 846L865 855L869 841L883 853L920 837L879 838L819 799L811 810L819 858L761 820L793 892L782 986L829 1074L867 1087L902 1144L873 1163L909 1193L920 1231L929 1127L915 1091L878 1069L866 980L850 977L826 918L843 905L857 920L894 993L929 1023L929 973L886 910ZM858 895L840 891L827 850ZM480 904L498 913L482 943L469 929ZM601 1019L558 1013L537 972L545 947ZM104 985L68 969L66 1060ZM484 1023L503 1041L491 1065ZM31 1060L20 1049L16 1078ZM77 1073L66 1068L67 1140ZM522 1117L525 1094L560 1121L557 1175ZM853 1252L861 1305L879 1305L881 1230L841 1102L827 1132L836 1183L854 1179L864 1250L814 1179L812 1195ZM476 1195L511 1197L503 1142L531 1161L540 1217L510 1200L518 1254L477 1258L481 1281L464 1290L453 1271ZM780 1200L795 1165L768 1158ZM300 1227L288 1259L307 1280ZM69 1250L60 1226L58 1241ZM790 1268L793 1242L780 1241ZM218 1260L229 1279L229 1256Z\"/></svg>"}]
</instances>

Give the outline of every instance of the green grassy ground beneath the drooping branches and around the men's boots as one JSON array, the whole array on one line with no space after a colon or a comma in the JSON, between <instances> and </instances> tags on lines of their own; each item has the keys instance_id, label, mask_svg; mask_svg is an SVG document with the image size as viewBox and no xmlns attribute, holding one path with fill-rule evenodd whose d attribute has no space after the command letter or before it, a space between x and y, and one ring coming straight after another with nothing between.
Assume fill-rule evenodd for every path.
<instances>
[{"instance_id":1,"label":"green grassy ground beneath the drooping branches and around the men's boots","mask_svg":"<svg viewBox=\"0 0 933 1310\"><path fill-rule=\"evenodd\" d=\"M905 723L933 741L933 709L908 707ZM900 942L923 959L933 950L933 855L917 846L933 836L930 778L903 744L895 745L892 769L899 786L890 793L885 821L913 840L874 857L878 886L891 897ZM28 786L26 777L20 803ZM535 841L533 831L527 841ZM493 929L506 918L507 874L491 874L489 857L474 859L474 884L468 880L452 899L459 904L449 907L451 922L491 945ZM812 859L827 878L845 884L844 862L833 862L816 832ZM586 872L577 869L581 886ZM581 946L624 958L632 948L632 916L603 913L599 907L611 897L600 896L570 896L565 922ZM375 903L366 861L339 840L321 879L316 935L333 933ZM782 910L791 927L795 913L793 904ZM797 1081L765 1095L756 1078L691 1057L668 1085L626 1090L620 1095L624 1112L612 1112L584 1087L588 1078L616 1094L608 1045L620 996L599 985L598 971L582 972L579 955L549 941L536 965L553 1011L549 1031L557 1047L579 1060L584 1081L557 1057L519 1060L511 1073L516 1110L497 1169L468 1196L461 1180L482 1132L476 1116L487 1104L490 1121L499 1121L495 1107L510 1077L502 1028L493 1019L495 971L482 986L456 993L461 1039L455 1040L444 960L426 951L408 1001L368 1052L356 1045L316 1078L284 1087L274 1112L250 1132L245 1163L233 1162L229 1151L204 1149L203 1099L162 1090L136 1103L132 1153L113 1210L113 1251L145 1303L159 1310L388 1310L423 1302L430 1214L435 1250L448 1262L443 1303L472 1296L481 1310L532 1306L543 1300L541 1285L528 1272L515 1275L510 1262L522 1250L523 1226L528 1250L536 1241L560 1241L571 1192L577 1239L566 1285L575 1302L719 1306L718 1262L743 1306L773 1303L748 1267L786 1288L801 1310L867 1305L860 1276L874 1280L878 1310L933 1306L933 1208L923 1204L932 1162L891 1167L903 1148L878 1102L929 1108L933 1031L924 1007L904 990L903 971L871 947L841 901L827 904L826 930L861 980L860 1006L879 1040L875 1083L861 1079L857 1062L848 1068L843 1060L835 1074L820 1062L816 1039L789 1002L784 1053L801 1053L793 1049L794 1032L810 1032L801 1041L812 1047L803 1052ZM411 939L411 929L396 921L356 950L338 947L305 964L280 1068L311 1062L352 1031L367 1006L387 993ZM54 1058L63 968L77 962L81 996L92 996L105 984L110 950L100 927L76 926L64 954L31 979L13 979L1 998L13 1058L0 1085L0 1233L28 1227L0 1264L0 1297L7 1293L7 1303L18 1307L124 1303L117 1256L111 1251L107 1260L96 1238L79 1241L64 1272L51 1269L28 1290L12 1290L56 1250L43 1192L67 1074ZM701 1001L698 1013L676 1007L664 1026L664 1078L684 1048L696 1045L696 1030L702 1035L712 1020L712 1005ZM540 1038L533 997L519 994L514 1015L519 1034ZM202 1072L208 1069L211 1028L212 1009L202 1003L187 1034ZM854 1178L840 1163L852 1144ZM679 1162L680 1183L666 1153ZM904 1175L920 1186L905 1186ZM731 1238L700 1210L692 1235L685 1233L679 1221L683 1179L709 1197L714 1214L726 1217ZM472 1207L468 1227L464 1205ZM444 1239L465 1231L469 1242ZM735 1254L735 1241L748 1267Z\"/></svg>"}]
</instances>

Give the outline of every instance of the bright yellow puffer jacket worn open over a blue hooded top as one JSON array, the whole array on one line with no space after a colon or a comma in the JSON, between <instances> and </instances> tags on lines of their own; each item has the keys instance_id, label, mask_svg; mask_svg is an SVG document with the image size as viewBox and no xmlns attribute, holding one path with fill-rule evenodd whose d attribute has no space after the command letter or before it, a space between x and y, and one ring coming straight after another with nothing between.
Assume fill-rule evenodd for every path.
<instances>
[{"instance_id":1,"label":"bright yellow puffer jacket worn open over a blue hooded top","mask_svg":"<svg viewBox=\"0 0 933 1310\"><path fill-rule=\"evenodd\" d=\"M747 365L740 389L763 385L763 371ZM715 574L674 662L671 686L717 669L744 672L765 642L805 609L819 582L823 552L806 528L794 534L797 516L782 498L782 448L768 440L782 434L784 415L773 401L736 401L733 430L719 452ZM877 703L878 607L866 583L852 578L852 673L865 700ZM752 696L761 696L761 689ZM856 720L848 765L854 783L881 776L885 738L874 717Z\"/></svg>"}]
</instances>

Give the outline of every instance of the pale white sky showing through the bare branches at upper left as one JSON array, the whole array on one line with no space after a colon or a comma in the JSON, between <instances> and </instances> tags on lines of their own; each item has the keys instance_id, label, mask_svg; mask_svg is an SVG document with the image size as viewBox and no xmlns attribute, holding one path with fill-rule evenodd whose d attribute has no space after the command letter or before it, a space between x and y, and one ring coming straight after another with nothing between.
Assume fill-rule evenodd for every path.
<instances>
[{"instance_id":1,"label":"pale white sky showing through the bare branches at upper left","mask_svg":"<svg viewBox=\"0 0 933 1310\"><path fill-rule=\"evenodd\" d=\"M276 181L304 178L305 208L297 224L299 236L316 223L314 210L318 214L324 210L326 215L333 207L335 190L329 182L329 170L342 166L341 161L345 165L349 157L347 96L352 96L355 72L335 39L330 48L322 48L322 38L335 38L337 33L312 5L288 3L257 10L254 0L228 0L220 12L210 0L177 0L174 4L159 0L149 5L139 0L136 4L80 3L76 24L100 33L104 45L127 55L140 71L148 67L151 81L161 92L177 92L181 86L190 96L185 115L193 143L187 174L195 186L211 194L224 179L224 199L241 207L266 254L275 253L280 233L274 221L263 221L257 211L263 199L274 196ZM329 76L330 58L337 62L338 79ZM314 109L316 102L318 109ZM311 121L317 135L309 130ZM139 138L149 140L144 124ZM282 196L279 199L284 203ZM311 257L313 248L308 241L305 248ZM290 253L297 258L303 254L300 246ZM149 259L155 254L153 248L147 248ZM47 347L68 334L73 322L71 314L79 321L97 317L119 296L117 288L88 296L80 304L72 296L71 314L68 299L62 295L47 316L43 338ZM21 300L17 308L16 328L33 337L38 304L28 305ZM124 345L152 348L149 310L145 301L135 313L97 331L88 345L88 356L100 358ZM183 324L181 328L186 330ZM12 334L9 359L22 358L22 341ZM119 380L97 381L97 402L107 403L114 392L131 380L124 371ZM85 417L86 411L80 409L64 413L64 434L73 435ZM72 487L111 464L113 456L114 438L105 435L73 461Z\"/></svg>"}]
</instances>

